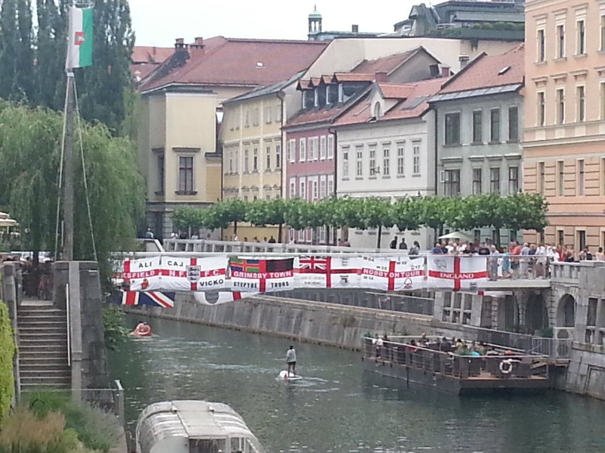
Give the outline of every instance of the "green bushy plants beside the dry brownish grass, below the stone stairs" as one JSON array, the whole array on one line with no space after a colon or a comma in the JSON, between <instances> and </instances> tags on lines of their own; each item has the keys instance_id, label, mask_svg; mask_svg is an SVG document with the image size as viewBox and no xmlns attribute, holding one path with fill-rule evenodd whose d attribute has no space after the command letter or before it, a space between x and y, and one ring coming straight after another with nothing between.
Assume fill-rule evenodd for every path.
<instances>
[{"instance_id":1,"label":"green bushy plants beside the dry brownish grass, below the stone stairs","mask_svg":"<svg viewBox=\"0 0 605 453\"><path fill-rule=\"evenodd\" d=\"M38 417L60 413L65 428L73 431L86 448L108 452L117 445L120 435L116 417L96 405L76 402L68 392L39 391L24 394L31 411ZM1 452L0 452L1 453Z\"/></svg>"}]
</instances>

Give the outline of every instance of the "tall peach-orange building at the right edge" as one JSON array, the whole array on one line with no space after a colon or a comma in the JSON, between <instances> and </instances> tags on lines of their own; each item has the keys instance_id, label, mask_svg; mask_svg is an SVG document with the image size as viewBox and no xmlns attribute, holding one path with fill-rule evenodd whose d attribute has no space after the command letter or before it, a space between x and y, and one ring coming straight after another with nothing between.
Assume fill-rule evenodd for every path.
<instances>
[{"instance_id":1,"label":"tall peach-orange building at the right edge","mask_svg":"<svg viewBox=\"0 0 605 453\"><path fill-rule=\"evenodd\" d=\"M525 12L523 187L548 199L547 243L594 254L605 246L605 1L530 0Z\"/></svg>"}]
</instances>

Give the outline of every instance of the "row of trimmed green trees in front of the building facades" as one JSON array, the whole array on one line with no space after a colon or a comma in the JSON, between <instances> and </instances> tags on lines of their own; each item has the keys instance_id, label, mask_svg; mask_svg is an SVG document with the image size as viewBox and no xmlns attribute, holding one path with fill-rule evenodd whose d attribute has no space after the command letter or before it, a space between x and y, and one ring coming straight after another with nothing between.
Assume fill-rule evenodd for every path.
<instances>
[{"instance_id":1,"label":"row of trimmed green trees in front of the building facades","mask_svg":"<svg viewBox=\"0 0 605 453\"><path fill-rule=\"evenodd\" d=\"M538 193L516 193L500 197L495 194L467 197L408 197L395 202L368 198L325 198L314 202L299 198L284 200L257 200L244 202L226 199L209 208L180 207L172 216L178 228L217 230L234 224L249 222L255 226L279 227L278 241L282 240L284 225L295 230L306 228L378 228L380 247L382 228L396 226L399 231L434 228L439 233L444 226L456 230L500 228L509 230L543 231L548 225L548 204ZM499 242L499 236L496 237Z\"/></svg>"}]
</instances>

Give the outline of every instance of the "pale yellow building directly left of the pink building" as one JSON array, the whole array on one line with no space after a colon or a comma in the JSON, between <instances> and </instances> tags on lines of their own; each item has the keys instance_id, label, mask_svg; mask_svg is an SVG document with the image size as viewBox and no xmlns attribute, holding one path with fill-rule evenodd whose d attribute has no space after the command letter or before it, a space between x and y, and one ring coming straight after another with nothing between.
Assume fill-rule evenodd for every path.
<instances>
[{"instance_id":1,"label":"pale yellow building directly left of the pink building","mask_svg":"<svg viewBox=\"0 0 605 453\"><path fill-rule=\"evenodd\" d=\"M301 108L296 84L304 71L286 82L256 89L223 103L220 142L223 145L223 199L244 201L281 198L283 137L288 112ZM277 226L238 225L238 239L278 239ZM235 237L231 226L223 239Z\"/></svg>"}]
</instances>

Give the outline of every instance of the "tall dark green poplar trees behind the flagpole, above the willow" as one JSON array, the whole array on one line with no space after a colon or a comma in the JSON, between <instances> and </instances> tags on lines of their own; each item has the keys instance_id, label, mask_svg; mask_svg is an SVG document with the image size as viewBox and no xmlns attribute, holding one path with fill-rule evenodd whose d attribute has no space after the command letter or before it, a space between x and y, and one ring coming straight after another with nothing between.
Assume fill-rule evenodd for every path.
<instances>
[{"instance_id":1,"label":"tall dark green poplar trees behind the flagpole, above the willow","mask_svg":"<svg viewBox=\"0 0 605 453\"><path fill-rule=\"evenodd\" d=\"M0 98L62 111L71 2L36 0L35 28L31 0L0 4ZM94 2L91 38L93 66L75 71L82 116L106 124L112 135L132 138L137 106L129 70L134 33L128 0Z\"/></svg>"}]
</instances>

